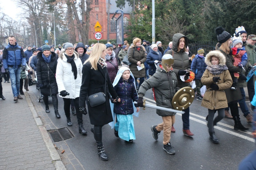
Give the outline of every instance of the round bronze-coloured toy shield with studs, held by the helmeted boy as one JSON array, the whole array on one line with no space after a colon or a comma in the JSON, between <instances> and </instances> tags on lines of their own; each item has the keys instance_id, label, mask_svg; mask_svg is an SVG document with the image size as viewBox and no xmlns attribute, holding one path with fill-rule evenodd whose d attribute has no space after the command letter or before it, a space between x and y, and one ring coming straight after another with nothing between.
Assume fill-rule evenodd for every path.
<instances>
[{"instance_id":1,"label":"round bronze-coloured toy shield with studs, held by the helmeted boy","mask_svg":"<svg viewBox=\"0 0 256 170\"><path fill-rule=\"evenodd\" d=\"M183 111L188 108L195 98L195 91L191 87L183 87L172 98L172 108Z\"/></svg>"}]
</instances>

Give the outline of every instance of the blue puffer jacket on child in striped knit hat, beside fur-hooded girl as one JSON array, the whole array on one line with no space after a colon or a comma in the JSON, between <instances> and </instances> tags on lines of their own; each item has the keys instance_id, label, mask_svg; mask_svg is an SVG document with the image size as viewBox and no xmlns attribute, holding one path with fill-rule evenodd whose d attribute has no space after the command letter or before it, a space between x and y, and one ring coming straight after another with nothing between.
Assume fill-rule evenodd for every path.
<instances>
[{"instance_id":1,"label":"blue puffer jacket on child in striped knit hat, beside fur-hooded girl","mask_svg":"<svg viewBox=\"0 0 256 170\"><path fill-rule=\"evenodd\" d=\"M207 65L204 62L204 57L197 54L191 64L191 70L195 73L195 80L201 80L206 67Z\"/></svg>"}]
</instances>

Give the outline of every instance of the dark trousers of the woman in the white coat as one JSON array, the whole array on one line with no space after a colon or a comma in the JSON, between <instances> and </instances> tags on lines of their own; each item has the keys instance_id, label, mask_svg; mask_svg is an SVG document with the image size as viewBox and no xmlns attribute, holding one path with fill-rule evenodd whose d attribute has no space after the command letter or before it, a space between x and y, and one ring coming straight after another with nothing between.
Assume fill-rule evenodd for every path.
<instances>
[{"instance_id":1,"label":"dark trousers of the woman in the white coat","mask_svg":"<svg viewBox=\"0 0 256 170\"><path fill-rule=\"evenodd\" d=\"M76 118L77 118L77 123L78 124L83 124L83 115L79 111L79 97L73 99L74 104L75 104L75 111L76 111ZM70 118L70 105L71 105L71 100L63 98L64 101L64 112L67 118Z\"/></svg>"}]
</instances>

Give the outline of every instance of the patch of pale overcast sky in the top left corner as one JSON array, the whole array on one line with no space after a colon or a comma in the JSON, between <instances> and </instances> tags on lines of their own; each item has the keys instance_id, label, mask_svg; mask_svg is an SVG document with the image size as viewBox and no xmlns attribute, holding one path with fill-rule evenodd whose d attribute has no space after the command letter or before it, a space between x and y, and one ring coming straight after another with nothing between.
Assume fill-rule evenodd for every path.
<instances>
[{"instance_id":1,"label":"patch of pale overcast sky in the top left corner","mask_svg":"<svg viewBox=\"0 0 256 170\"><path fill-rule=\"evenodd\" d=\"M8 15L14 20L18 20L22 9L16 6L13 0L0 0L1 12Z\"/></svg>"}]
</instances>

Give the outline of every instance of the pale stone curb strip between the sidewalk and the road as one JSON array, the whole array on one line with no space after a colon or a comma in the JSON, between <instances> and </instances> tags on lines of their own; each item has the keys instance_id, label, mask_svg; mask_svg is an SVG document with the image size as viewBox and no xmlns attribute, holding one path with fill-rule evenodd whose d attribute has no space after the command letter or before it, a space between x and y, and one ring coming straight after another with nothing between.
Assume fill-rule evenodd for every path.
<instances>
[{"instance_id":1,"label":"pale stone curb strip between the sidewalk and the road","mask_svg":"<svg viewBox=\"0 0 256 170\"><path fill-rule=\"evenodd\" d=\"M49 137L49 134L47 133L46 128L43 125L42 120L40 119L40 117L38 116L37 112L34 109L34 106L33 106L32 102L30 100L29 94L28 93L24 93L24 94L26 96L26 100L27 100L28 106L30 108L30 111L33 115L33 118L34 118L35 122L37 123L37 126L38 126L38 128L41 132L41 135L42 135L43 140L45 142L45 146L48 149L49 154L50 154L50 156L53 160L54 167L57 170L66 170L67 168L64 166L57 150L55 149L55 147L53 145L53 142L52 142L51 138Z\"/></svg>"}]
</instances>

